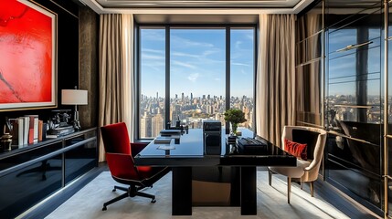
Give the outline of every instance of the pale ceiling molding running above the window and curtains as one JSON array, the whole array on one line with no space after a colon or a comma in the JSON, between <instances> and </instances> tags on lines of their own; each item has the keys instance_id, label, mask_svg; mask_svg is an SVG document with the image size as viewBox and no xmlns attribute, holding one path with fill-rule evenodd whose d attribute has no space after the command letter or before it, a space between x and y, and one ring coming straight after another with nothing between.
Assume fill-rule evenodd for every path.
<instances>
[{"instance_id":1,"label":"pale ceiling molding running above the window and curtains","mask_svg":"<svg viewBox=\"0 0 392 219\"><path fill-rule=\"evenodd\" d=\"M97 0L79 0L83 5L88 5L97 14L132 14L132 15L260 15L260 14L298 14L313 0L298 0L295 5L287 6L292 0L281 1L281 5L276 5L276 1L264 1L265 3L274 2L274 7L260 5L260 7L241 8L237 7L123 7L122 5L104 7ZM131 2L131 0L128 0ZM186 0L185 0L186 1ZM239 2L239 0L238 0ZM263 2L263 1L260 1ZM297 3L298 2L298 3Z\"/></svg>"}]
</instances>

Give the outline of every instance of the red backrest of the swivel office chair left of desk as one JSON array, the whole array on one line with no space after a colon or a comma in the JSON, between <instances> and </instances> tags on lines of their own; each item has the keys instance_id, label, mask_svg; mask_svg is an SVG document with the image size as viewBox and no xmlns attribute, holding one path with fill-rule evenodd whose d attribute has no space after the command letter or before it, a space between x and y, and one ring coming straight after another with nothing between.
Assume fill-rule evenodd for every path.
<instances>
[{"instance_id":1,"label":"red backrest of the swivel office chair left of desk","mask_svg":"<svg viewBox=\"0 0 392 219\"><path fill-rule=\"evenodd\" d=\"M101 127L102 141L106 152L131 153L131 141L124 122Z\"/></svg>"}]
</instances>

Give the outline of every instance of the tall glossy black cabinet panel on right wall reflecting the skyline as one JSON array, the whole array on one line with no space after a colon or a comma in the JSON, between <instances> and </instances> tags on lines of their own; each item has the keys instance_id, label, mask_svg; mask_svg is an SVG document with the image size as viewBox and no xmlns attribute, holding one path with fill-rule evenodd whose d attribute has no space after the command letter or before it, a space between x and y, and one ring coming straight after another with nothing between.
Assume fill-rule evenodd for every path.
<instances>
[{"instance_id":1,"label":"tall glossy black cabinet panel on right wall reflecting the skyline","mask_svg":"<svg viewBox=\"0 0 392 219\"><path fill-rule=\"evenodd\" d=\"M326 1L326 180L378 211L382 189L382 1Z\"/></svg>"}]
</instances>

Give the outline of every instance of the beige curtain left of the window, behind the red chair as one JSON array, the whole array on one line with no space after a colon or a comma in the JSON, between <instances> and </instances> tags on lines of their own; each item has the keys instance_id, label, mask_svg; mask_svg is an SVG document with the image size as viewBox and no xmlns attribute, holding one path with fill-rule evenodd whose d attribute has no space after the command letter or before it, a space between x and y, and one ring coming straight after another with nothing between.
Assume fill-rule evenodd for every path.
<instances>
[{"instance_id":1,"label":"beige curtain left of the window, behind the red chair","mask_svg":"<svg viewBox=\"0 0 392 219\"><path fill-rule=\"evenodd\" d=\"M132 140L133 16L101 15L99 49L99 126L124 121ZM102 141L99 161L105 161Z\"/></svg>"}]
</instances>

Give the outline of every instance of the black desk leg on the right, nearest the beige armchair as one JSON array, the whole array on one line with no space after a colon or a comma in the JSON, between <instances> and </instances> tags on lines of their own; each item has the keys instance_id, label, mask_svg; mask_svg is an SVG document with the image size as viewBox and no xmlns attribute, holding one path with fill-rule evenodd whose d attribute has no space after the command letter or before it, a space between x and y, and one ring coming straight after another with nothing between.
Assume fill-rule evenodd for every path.
<instances>
[{"instance_id":1,"label":"black desk leg on the right, nearest the beige armchair","mask_svg":"<svg viewBox=\"0 0 392 219\"><path fill-rule=\"evenodd\" d=\"M241 167L240 177L241 215L256 215L256 167Z\"/></svg>"}]
</instances>

